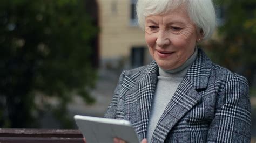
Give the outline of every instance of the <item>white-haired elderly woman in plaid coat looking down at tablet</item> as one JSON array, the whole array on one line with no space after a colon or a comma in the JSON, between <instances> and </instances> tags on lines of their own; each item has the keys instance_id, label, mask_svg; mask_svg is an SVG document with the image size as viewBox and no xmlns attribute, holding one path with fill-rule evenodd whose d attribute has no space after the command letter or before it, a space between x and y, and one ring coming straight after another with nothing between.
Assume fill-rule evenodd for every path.
<instances>
[{"instance_id":1,"label":"white-haired elderly woman in plaid coat looking down at tablet","mask_svg":"<svg viewBox=\"0 0 256 143\"><path fill-rule=\"evenodd\" d=\"M154 61L123 71L105 117L147 142L250 142L246 78L197 47L215 28L212 1L138 0L137 16Z\"/></svg>"}]
</instances>

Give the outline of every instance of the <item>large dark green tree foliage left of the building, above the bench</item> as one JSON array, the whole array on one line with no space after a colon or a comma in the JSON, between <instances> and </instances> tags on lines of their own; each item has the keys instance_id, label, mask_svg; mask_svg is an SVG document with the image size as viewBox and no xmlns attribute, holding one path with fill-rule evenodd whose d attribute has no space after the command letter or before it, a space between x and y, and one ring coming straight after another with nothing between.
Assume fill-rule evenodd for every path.
<instances>
[{"instance_id":1,"label":"large dark green tree foliage left of the building, above the bench","mask_svg":"<svg viewBox=\"0 0 256 143\"><path fill-rule=\"evenodd\" d=\"M90 40L98 30L84 6L82 0L0 1L0 127L37 127L45 109L65 123L72 95L93 102ZM52 98L56 104L44 100Z\"/></svg>"}]
</instances>

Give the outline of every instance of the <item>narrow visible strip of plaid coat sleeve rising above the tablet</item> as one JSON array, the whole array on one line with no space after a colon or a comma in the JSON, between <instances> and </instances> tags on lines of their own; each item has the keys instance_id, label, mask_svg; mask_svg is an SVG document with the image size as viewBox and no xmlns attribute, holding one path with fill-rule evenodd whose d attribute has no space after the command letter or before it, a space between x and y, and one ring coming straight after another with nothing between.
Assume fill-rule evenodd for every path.
<instances>
[{"instance_id":1,"label":"narrow visible strip of plaid coat sleeve rising above the tablet","mask_svg":"<svg viewBox=\"0 0 256 143\"><path fill-rule=\"evenodd\" d=\"M112 101L110 102L109 107L107 108L104 118L112 118L112 119L116 118L117 103L120 96L120 91L122 89L122 83L124 82L124 77L125 77L125 71L123 71L119 77L116 90L114 90Z\"/></svg>"}]
</instances>

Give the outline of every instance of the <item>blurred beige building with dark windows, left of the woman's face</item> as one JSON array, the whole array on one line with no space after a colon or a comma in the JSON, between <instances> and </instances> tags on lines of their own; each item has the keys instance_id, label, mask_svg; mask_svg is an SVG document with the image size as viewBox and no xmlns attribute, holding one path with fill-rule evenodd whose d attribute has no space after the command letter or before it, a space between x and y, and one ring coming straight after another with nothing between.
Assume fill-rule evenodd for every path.
<instances>
[{"instance_id":1,"label":"blurred beige building with dark windows, left of the woman's face","mask_svg":"<svg viewBox=\"0 0 256 143\"><path fill-rule=\"evenodd\" d=\"M103 68L134 68L152 61L138 27L136 0L95 0L98 6L98 55Z\"/></svg>"}]
</instances>

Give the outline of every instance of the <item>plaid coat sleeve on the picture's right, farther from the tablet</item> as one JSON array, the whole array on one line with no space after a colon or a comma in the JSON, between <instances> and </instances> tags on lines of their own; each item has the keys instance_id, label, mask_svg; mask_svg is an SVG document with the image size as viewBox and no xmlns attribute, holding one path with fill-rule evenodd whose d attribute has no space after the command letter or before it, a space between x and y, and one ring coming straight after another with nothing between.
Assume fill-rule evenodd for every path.
<instances>
[{"instance_id":1,"label":"plaid coat sleeve on the picture's right, farther from the tablet","mask_svg":"<svg viewBox=\"0 0 256 143\"><path fill-rule=\"evenodd\" d=\"M234 75L218 95L208 142L250 142L251 105L246 78Z\"/></svg>"}]
</instances>

